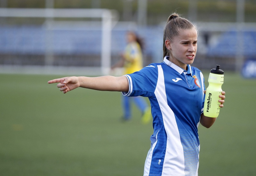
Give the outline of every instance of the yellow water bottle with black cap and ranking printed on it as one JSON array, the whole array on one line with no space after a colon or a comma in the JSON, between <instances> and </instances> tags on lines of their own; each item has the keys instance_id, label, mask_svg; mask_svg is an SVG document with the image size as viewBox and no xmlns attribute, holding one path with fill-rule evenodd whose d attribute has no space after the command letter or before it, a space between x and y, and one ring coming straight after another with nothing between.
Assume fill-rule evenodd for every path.
<instances>
[{"instance_id":1,"label":"yellow water bottle with black cap and ranking printed on it","mask_svg":"<svg viewBox=\"0 0 256 176\"><path fill-rule=\"evenodd\" d=\"M206 89L204 99L204 116L218 117L220 113L220 103L222 89L221 85L224 81L224 72L220 70L220 65L216 65L216 69L212 69L209 75L209 86Z\"/></svg>"}]
</instances>

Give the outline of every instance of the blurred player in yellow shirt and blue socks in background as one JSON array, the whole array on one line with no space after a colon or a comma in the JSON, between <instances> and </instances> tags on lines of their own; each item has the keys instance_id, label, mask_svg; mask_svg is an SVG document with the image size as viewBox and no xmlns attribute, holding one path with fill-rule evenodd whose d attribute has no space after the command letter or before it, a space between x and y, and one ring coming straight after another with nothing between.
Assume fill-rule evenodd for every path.
<instances>
[{"instance_id":1,"label":"blurred player in yellow shirt and blue socks in background","mask_svg":"<svg viewBox=\"0 0 256 176\"><path fill-rule=\"evenodd\" d=\"M129 31L126 33L126 42L124 53L121 55L121 59L111 69L116 67L124 67L124 75L137 72L143 68L143 41L139 38L135 32ZM127 121L131 119L131 103L132 101L136 104L139 110L142 112L141 121L143 124L146 124L152 118L151 108L148 106L146 100L141 96L136 97L122 97L124 115L122 120Z\"/></svg>"}]
</instances>

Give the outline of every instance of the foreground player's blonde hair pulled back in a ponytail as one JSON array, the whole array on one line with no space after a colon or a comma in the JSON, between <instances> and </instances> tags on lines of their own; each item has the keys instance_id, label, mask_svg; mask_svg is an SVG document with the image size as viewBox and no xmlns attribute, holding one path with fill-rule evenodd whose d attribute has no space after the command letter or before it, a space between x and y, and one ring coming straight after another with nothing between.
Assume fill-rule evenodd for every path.
<instances>
[{"instance_id":1,"label":"foreground player's blonde hair pulled back in a ponytail","mask_svg":"<svg viewBox=\"0 0 256 176\"><path fill-rule=\"evenodd\" d=\"M180 30L184 29L192 29L195 28L198 34L198 30L196 25L192 24L188 19L180 17L177 13L172 13L167 19L166 25L164 27L164 44L163 51L165 56L170 56L170 50L168 50L165 46L165 40L170 40L172 42L173 38L179 35Z\"/></svg>"}]
</instances>

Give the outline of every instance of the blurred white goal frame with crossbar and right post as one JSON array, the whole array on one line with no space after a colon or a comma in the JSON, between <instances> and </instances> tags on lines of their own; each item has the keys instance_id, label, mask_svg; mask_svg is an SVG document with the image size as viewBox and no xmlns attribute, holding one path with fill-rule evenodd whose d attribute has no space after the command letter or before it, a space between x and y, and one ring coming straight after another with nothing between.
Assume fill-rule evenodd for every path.
<instances>
[{"instance_id":1,"label":"blurred white goal frame with crossbar and right post","mask_svg":"<svg viewBox=\"0 0 256 176\"><path fill-rule=\"evenodd\" d=\"M0 17L25 18L100 18L101 19L101 73L107 74L111 64L111 30L118 19L117 12L108 9L31 9L0 8ZM47 55L47 54L46 54ZM46 56L45 65L52 65L52 57Z\"/></svg>"}]
</instances>

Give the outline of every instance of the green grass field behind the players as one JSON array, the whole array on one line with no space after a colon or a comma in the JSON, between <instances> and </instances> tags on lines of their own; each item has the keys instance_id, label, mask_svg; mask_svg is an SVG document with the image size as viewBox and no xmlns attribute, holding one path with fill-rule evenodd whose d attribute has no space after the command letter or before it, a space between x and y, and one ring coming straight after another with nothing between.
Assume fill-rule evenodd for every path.
<instances>
[{"instance_id":1,"label":"green grass field behind the players","mask_svg":"<svg viewBox=\"0 0 256 176\"><path fill-rule=\"evenodd\" d=\"M152 124L140 123L136 107L121 123L121 93L63 94L47 84L58 77L0 74L0 175L143 175ZM199 176L256 175L255 88L225 73L225 106L211 128L199 126Z\"/></svg>"}]
</instances>

